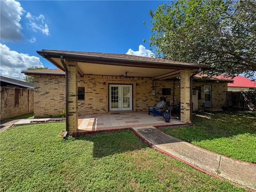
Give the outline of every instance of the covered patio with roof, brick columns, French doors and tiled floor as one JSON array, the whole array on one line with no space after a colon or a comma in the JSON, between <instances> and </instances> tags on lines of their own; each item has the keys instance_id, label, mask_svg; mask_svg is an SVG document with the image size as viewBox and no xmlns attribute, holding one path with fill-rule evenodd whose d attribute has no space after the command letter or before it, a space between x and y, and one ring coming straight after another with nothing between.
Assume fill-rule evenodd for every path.
<instances>
[{"instance_id":1,"label":"covered patio with roof, brick columns, French doors and tiled floor","mask_svg":"<svg viewBox=\"0 0 256 192\"><path fill-rule=\"evenodd\" d=\"M193 109L191 79L207 69L207 66L196 63L127 54L60 50L37 53L65 71L68 134L132 126L189 124ZM180 83L180 121L173 118L170 123L165 123L161 116L148 115L148 107L159 101L156 82L161 82L159 86L164 87L163 82L168 83L177 77ZM83 87L78 90L78 86ZM79 91L85 93L82 101L78 99Z\"/></svg>"}]
</instances>

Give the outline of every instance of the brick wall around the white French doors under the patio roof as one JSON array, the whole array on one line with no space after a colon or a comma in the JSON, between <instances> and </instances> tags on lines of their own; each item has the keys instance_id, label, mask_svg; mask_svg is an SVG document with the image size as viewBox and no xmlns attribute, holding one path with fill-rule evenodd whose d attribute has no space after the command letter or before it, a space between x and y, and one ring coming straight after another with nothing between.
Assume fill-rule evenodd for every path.
<instances>
[{"instance_id":1,"label":"brick wall around the white French doors under the patio roof","mask_svg":"<svg viewBox=\"0 0 256 192\"><path fill-rule=\"evenodd\" d=\"M155 105L153 81L150 78L85 75L84 78L78 78L78 86L85 87L85 101L78 101L78 113L107 113L109 84L133 85L133 111L145 111Z\"/></svg>"}]
</instances>

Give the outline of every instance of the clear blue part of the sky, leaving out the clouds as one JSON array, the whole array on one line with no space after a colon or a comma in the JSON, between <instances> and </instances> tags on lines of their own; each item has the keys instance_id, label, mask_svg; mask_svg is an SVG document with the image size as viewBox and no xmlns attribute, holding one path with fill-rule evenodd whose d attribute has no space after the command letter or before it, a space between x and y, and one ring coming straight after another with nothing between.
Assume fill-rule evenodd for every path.
<instances>
[{"instance_id":1,"label":"clear blue part of the sky, leaving out the clouds","mask_svg":"<svg viewBox=\"0 0 256 192\"><path fill-rule=\"evenodd\" d=\"M161 1L20 1L23 9L19 20L22 39L1 39L11 51L39 55L37 50L57 49L73 51L126 53L138 51L139 45L149 49L149 10ZM9 5L10 6L10 5ZM27 14L30 14L30 19ZM43 22L39 15L43 15ZM34 18L34 19L33 19ZM47 25L49 33L31 27L31 22ZM2 32L2 31L1 31ZM34 43L29 42L34 39ZM39 57L43 66L55 68ZM11 76L11 74L9 74Z\"/></svg>"}]
</instances>

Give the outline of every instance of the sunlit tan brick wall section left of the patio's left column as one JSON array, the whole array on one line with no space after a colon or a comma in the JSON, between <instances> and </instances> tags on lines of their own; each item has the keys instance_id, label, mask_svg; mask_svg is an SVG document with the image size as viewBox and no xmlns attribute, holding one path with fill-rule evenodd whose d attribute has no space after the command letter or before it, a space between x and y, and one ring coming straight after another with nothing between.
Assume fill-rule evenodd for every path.
<instances>
[{"instance_id":1,"label":"sunlit tan brick wall section left of the patio's left column","mask_svg":"<svg viewBox=\"0 0 256 192\"><path fill-rule=\"evenodd\" d=\"M65 76L34 76L35 118L59 115L65 110Z\"/></svg>"}]
</instances>

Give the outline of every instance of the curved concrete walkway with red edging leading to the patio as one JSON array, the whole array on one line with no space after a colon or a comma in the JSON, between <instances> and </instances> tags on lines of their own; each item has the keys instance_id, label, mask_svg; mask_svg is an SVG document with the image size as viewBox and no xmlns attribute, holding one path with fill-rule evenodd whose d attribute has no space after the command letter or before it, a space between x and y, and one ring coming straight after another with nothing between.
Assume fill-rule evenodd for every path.
<instances>
[{"instance_id":1,"label":"curved concrete walkway with red edging leading to the patio","mask_svg":"<svg viewBox=\"0 0 256 192\"><path fill-rule=\"evenodd\" d=\"M164 154L177 158L207 174L214 174L214 177L221 177L256 189L256 164L213 153L171 137L152 126L133 127L133 130L142 140Z\"/></svg>"}]
</instances>

